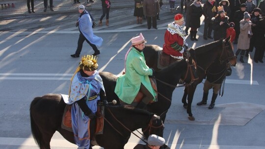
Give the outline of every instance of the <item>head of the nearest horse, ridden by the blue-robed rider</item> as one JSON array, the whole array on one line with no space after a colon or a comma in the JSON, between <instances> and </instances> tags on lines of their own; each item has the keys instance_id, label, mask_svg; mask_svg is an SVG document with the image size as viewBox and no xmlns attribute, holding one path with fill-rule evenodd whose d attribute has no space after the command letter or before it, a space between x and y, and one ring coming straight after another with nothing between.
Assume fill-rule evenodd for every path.
<instances>
[{"instance_id":1,"label":"head of the nearest horse, ridden by the blue-robed rider","mask_svg":"<svg viewBox=\"0 0 265 149\"><path fill-rule=\"evenodd\" d=\"M160 137L163 137L164 124L162 119L157 115L153 115L149 121L149 124L147 124L145 128L142 128L142 131L146 139L151 134L156 134Z\"/></svg>"}]
</instances>

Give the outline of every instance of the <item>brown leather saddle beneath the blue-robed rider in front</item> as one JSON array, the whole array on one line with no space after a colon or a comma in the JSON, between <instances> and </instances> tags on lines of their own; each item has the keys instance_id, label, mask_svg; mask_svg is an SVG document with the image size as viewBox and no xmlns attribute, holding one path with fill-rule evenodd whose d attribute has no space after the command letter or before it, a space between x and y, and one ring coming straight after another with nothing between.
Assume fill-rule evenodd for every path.
<instances>
[{"instance_id":1,"label":"brown leather saddle beneath the blue-robed rider in front","mask_svg":"<svg viewBox=\"0 0 265 149\"><path fill-rule=\"evenodd\" d=\"M67 104L64 108L61 127L73 132L72 118L71 118L72 104ZM103 134L104 128L104 105L99 106L96 112L96 130L95 134Z\"/></svg>"}]
</instances>

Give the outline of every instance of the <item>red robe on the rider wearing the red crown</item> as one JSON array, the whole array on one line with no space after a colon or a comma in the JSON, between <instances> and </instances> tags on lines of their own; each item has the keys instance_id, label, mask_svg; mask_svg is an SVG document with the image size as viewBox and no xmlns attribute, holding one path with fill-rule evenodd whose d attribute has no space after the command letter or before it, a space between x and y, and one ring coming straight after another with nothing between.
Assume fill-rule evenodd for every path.
<instances>
[{"instance_id":1,"label":"red robe on the rider wearing the red crown","mask_svg":"<svg viewBox=\"0 0 265 149\"><path fill-rule=\"evenodd\" d=\"M184 39L179 34L175 33L172 35L168 30L166 30L164 40L165 40L165 43L163 45L163 52L165 52L168 55L172 55L172 56L183 56L182 53L180 53L177 50L174 50L170 46L174 44L175 42L177 42L181 47L183 47Z\"/></svg>"}]
</instances>

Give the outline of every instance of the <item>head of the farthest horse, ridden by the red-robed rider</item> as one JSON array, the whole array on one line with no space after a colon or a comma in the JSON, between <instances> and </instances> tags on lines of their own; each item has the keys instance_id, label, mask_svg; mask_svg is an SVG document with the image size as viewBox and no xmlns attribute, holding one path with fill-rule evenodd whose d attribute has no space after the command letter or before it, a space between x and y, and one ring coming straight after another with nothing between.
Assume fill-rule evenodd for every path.
<instances>
[{"instance_id":1,"label":"head of the farthest horse, ridden by the red-robed rider","mask_svg":"<svg viewBox=\"0 0 265 149\"><path fill-rule=\"evenodd\" d=\"M236 66L237 58L234 54L234 47L230 42L230 37L223 40L223 49L220 55L220 63L230 63L232 66Z\"/></svg>"}]
</instances>

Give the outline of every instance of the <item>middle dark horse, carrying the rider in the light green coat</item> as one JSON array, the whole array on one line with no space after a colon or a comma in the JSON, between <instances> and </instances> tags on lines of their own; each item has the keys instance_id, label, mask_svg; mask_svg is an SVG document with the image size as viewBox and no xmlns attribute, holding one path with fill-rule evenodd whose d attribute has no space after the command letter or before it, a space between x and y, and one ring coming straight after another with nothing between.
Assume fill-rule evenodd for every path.
<instances>
[{"instance_id":1,"label":"middle dark horse, carrying the rider in the light green coat","mask_svg":"<svg viewBox=\"0 0 265 149\"><path fill-rule=\"evenodd\" d=\"M163 122L165 120L167 110L171 105L173 91L180 78L184 78L186 70L187 62L182 60L156 72L155 78L159 80L157 81L158 101L148 104L147 110L159 115ZM118 77L108 72L102 72L100 73L100 76L103 79L108 102L111 102L112 99L118 99L117 95L114 93ZM171 85L169 86L168 84Z\"/></svg>"}]
</instances>

